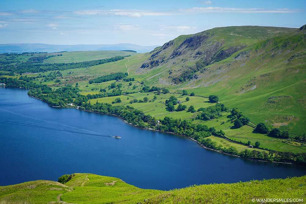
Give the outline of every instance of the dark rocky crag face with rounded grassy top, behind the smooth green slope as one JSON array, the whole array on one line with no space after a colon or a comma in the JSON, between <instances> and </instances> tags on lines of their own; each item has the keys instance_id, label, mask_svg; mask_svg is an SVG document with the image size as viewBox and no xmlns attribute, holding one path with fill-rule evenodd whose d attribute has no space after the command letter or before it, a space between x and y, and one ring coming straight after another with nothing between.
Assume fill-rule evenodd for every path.
<instances>
[{"instance_id":1,"label":"dark rocky crag face with rounded grassy top, behind the smooth green slope","mask_svg":"<svg viewBox=\"0 0 306 204\"><path fill-rule=\"evenodd\" d=\"M297 29L259 26L213 28L194 35L181 35L151 51L151 56L137 70L168 69L168 82L181 83L197 78L194 72L224 60L233 53L261 40L292 33ZM190 66L195 65L195 66Z\"/></svg>"}]
</instances>

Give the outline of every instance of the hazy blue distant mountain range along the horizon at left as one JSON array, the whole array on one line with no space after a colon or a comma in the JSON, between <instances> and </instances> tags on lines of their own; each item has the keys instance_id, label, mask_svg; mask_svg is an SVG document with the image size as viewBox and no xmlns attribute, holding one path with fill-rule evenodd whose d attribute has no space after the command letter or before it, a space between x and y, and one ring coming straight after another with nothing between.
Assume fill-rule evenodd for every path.
<instances>
[{"instance_id":1,"label":"hazy blue distant mountain range along the horizon at left","mask_svg":"<svg viewBox=\"0 0 306 204\"><path fill-rule=\"evenodd\" d=\"M97 51L97 50L135 50L139 53L150 52L157 46L141 46L130 43L112 45L50 45L42 43L0 44L0 53L5 52L60 52L60 51Z\"/></svg>"}]
</instances>

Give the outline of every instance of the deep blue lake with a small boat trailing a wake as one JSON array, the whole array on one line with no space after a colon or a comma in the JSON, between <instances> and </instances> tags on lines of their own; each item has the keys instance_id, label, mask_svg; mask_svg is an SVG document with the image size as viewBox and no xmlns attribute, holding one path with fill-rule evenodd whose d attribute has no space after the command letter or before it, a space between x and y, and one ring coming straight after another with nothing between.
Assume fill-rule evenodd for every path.
<instances>
[{"instance_id":1,"label":"deep blue lake with a small boat trailing a wake","mask_svg":"<svg viewBox=\"0 0 306 204\"><path fill-rule=\"evenodd\" d=\"M303 166L221 154L184 136L136 128L119 117L50 107L27 92L0 87L0 186L57 181L76 172L161 190L306 174Z\"/></svg>"}]
</instances>

